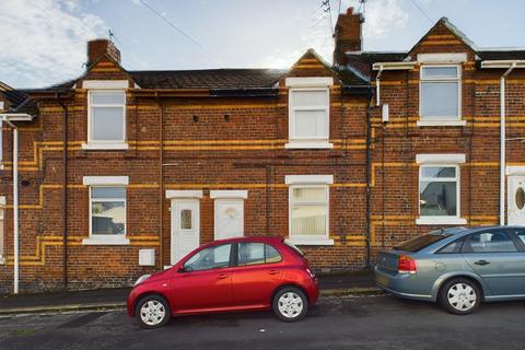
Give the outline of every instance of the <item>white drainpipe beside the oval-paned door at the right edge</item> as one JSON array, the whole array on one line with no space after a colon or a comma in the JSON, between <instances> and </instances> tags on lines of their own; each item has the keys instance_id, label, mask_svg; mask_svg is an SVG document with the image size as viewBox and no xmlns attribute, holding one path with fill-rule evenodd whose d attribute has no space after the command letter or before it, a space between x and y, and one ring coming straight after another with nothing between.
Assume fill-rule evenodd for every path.
<instances>
[{"instance_id":1,"label":"white drainpipe beside the oval-paned door at the right edge","mask_svg":"<svg viewBox=\"0 0 525 350\"><path fill-rule=\"evenodd\" d=\"M500 78L500 225L505 224L505 167L506 167L506 115L505 115L505 78L516 68L512 62Z\"/></svg>"}]
</instances>

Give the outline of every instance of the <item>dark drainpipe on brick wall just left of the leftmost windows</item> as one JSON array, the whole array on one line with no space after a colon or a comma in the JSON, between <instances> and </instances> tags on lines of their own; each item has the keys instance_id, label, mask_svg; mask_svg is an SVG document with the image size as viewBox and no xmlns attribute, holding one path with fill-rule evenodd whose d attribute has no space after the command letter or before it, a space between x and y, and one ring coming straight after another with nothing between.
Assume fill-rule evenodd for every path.
<instances>
[{"instance_id":1,"label":"dark drainpipe on brick wall just left of the leftmost windows","mask_svg":"<svg viewBox=\"0 0 525 350\"><path fill-rule=\"evenodd\" d=\"M58 96L57 96L58 100ZM68 290L68 107L58 100L62 108L62 283Z\"/></svg>"}]
</instances>

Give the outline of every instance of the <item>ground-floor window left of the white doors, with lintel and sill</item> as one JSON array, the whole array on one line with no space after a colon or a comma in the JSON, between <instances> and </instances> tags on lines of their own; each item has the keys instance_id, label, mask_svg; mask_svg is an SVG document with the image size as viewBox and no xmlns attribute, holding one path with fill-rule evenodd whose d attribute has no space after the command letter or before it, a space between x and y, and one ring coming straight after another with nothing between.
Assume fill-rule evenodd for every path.
<instances>
[{"instance_id":1,"label":"ground-floor window left of the white doors, with lintel and sill","mask_svg":"<svg viewBox=\"0 0 525 350\"><path fill-rule=\"evenodd\" d=\"M84 176L89 185L90 237L83 244L129 244L126 238L127 176Z\"/></svg>"}]
</instances>

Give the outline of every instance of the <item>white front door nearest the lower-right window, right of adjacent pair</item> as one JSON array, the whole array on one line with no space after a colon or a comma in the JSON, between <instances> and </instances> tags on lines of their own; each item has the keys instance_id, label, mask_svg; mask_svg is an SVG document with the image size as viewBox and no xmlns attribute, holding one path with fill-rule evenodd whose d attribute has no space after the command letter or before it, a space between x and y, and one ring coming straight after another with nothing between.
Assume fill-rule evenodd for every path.
<instances>
[{"instance_id":1,"label":"white front door nearest the lower-right window, right of adjacent pair","mask_svg":"<svg viewBox=\"0 0 525 350\"><path fill-rule=\"evenodd\" d=\"M215 199L215 240L244 235L244 200Z\"/></svg>"}]
</instances>

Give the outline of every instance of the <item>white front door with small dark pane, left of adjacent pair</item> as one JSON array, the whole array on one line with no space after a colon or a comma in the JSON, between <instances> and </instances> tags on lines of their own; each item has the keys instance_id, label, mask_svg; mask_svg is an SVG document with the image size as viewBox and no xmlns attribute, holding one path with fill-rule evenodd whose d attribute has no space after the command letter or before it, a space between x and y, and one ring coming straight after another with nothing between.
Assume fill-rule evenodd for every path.
<instances>
[{"instance_id":1,"label":"white front door with small dark pane, left of adjacent pair","mask_svg":"<svg viewBox=\"0 0 525 350\"><path fill-rule=\"evenodd\" d=\"M198 199L172 199L172 265L200 245Z\"/></svg>"}]
</instances>

